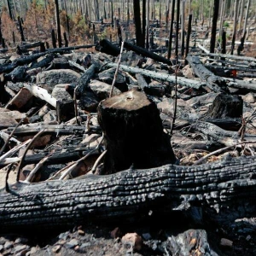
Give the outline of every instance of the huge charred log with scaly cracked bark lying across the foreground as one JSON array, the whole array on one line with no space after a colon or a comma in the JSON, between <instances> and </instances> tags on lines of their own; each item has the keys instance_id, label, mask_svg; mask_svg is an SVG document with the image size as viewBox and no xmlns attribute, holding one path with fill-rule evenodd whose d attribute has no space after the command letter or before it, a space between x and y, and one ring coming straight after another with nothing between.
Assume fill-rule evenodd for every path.
<instances>
[{"instance_id":1,"label":"huge charred log with scaly cracked bark lying across the foreground","mask_svg":"<svg viewBox=\"0 0 256 256\"><path fill-rule=\"evenodd\" d=\"M167 206L170 212L201 207L207 219L228 224L255 216L255 193L256 157L15 183L0 191L0 230L50 229L93 219L127 218Z\"/></svg>"}]
</instances>

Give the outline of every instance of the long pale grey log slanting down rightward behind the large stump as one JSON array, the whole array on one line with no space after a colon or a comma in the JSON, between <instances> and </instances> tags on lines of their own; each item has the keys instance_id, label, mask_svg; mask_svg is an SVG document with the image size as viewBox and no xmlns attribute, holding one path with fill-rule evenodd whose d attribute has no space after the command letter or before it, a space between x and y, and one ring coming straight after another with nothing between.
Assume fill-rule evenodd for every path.
<instances>
[{"instance_id":1,"label":"long pale grey log slanting down rightward behind the large stump","mask_svg":"<svg viewBox=\"0 0 256 256\"><path fill-rule=\"evenodd\" d=\"M107 63L106 67L117 67L117 64L116 63ZM125 65L119 65L119 70L129 72L129 73L140 73L143 76L146 76L148 78L160 80L160 81L167 81L172 84L176 83L175 75L169 75L169 74L165 74L165 73L157 73L157 72L146 70L143 68L128 67ZM199 90L202 87L202 85L206 85L205 82L198 82L193 79L185 79L185 78L181 78L181 77L177 77L177 84L195 88L197 90Z\"/></svg>"}]
</instances>

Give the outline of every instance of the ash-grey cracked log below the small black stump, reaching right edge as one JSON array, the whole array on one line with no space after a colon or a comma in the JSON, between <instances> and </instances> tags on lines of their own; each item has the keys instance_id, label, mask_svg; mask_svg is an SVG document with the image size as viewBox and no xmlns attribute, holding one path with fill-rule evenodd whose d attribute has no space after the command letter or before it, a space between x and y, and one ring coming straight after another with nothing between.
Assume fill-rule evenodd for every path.
<instances>
[{"instance_id":1,"label":"ash-grey cracked log below the small black stump, reaching right edge","mask_svg":"<svg viewBox=\"0 0 256 256\"><path fill-rule=\"evenodd\" d=\"M191 127L197 131L201 131L209 137L212 137L215 141L222 143L227 147L239 143L241 139L241 135L237 131L226 131L217 125L207 122L198 121L196 123L192 123ZM245 133L243 138L245 141L251 141L251 145L254 145L254 147L256 146L256 135Z\"/></svg>"}]
</instances>

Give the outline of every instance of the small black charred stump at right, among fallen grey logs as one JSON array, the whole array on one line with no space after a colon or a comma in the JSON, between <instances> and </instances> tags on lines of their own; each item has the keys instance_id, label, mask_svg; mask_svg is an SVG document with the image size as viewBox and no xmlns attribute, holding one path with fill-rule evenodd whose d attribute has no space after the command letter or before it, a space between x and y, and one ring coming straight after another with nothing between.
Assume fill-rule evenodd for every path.
<instances>
[{"instance_id":1,"label":"small black charred stump at right, among fallen grey logs","mask_svg":"<svg viewBox=\"0 0 256 256\"><path fill-rule=\"evenodd\" d=\"M220 93L212 102L206 116L213 119L241 118L242 106L241 96Z\"/></svg>"}]
</instances>

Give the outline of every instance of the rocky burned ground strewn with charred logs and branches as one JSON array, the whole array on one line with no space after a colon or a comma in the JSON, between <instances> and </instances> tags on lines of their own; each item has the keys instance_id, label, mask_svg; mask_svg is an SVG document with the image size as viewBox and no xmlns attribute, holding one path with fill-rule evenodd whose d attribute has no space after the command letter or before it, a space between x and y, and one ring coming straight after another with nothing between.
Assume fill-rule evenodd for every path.
<instances>
[{"instance_id":1,"label":"rocky burned ground strewn with charred logs and branches","mask_svg":"<svg viewBox=\"0 0 256 256\"><path fill-rule=\"evenodd\" d=\"M98 106L113 81L113 96L139 91L157 107L175 165L255 156L252 52L211 55L194 47L176 63L125 46L120 59L119 45L107 40L89 49L0 55L0 193L7 173L12 188L17 176L23 183L50 183L105 175ZM243 53L250 49L245 45ZM188 211L163 205L131 218L4 230L0 255L255 255L256 212L242 216L239 205L236 211L241 216L227 224L208 219L201 205Z\"/></svg>"}]
</instances>

